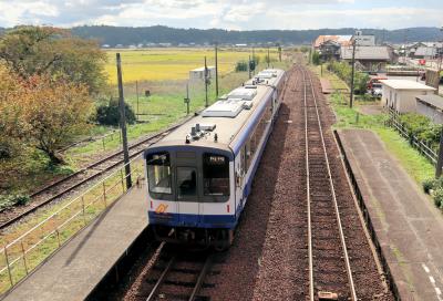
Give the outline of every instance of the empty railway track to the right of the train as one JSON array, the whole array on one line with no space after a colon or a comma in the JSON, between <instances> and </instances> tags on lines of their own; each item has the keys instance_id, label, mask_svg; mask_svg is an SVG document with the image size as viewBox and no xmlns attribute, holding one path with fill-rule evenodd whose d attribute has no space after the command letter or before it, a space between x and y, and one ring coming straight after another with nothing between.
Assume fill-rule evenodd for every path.
<instances>
[{"instance_id":1,"label":"empty railway track to the right of the train","mask_svg":"<svg viewBox=\"0 0 443 301\"><path fill-rule=\"evenodd\" d=\"M309 300L357 301L319 105L302 71L307 169Z\"/></svg>"}]
</instances>

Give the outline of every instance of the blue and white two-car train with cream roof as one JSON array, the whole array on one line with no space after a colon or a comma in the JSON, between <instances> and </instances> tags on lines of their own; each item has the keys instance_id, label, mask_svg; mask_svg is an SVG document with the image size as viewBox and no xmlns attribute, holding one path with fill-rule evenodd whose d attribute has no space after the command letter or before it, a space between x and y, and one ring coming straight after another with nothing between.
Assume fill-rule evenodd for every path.
<instances>
[{"instance_id":1,"label":"blue and white two-car train with cream roof","mask_svg":"<svg viewBox=\"0 0 443 301\"><path fill-rule=\"evenodd\" d=\"M230 246L285 82L264 70L144 152L157 240Z\"/></svg>"}]
</instances>

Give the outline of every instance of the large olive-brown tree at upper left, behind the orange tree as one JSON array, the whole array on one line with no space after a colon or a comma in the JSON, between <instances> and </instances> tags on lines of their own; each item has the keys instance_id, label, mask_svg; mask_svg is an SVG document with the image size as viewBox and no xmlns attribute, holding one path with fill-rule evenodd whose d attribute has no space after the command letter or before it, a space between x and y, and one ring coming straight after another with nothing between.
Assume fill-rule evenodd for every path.
<instances>
[{"instance_id":1,"label":"large olive-brown tree at upper left, behind the orange tree","mask_svg":"<svg viewBox=\"0 0 443 301\"><path fill-rule=\"evenodd\" d=\"M0 40L0 60L22 79L47 75L84 84L90 93L97 93L106 81L106 54L95 41L51 27L7 31Z\"/></svg>"}]
</instances>

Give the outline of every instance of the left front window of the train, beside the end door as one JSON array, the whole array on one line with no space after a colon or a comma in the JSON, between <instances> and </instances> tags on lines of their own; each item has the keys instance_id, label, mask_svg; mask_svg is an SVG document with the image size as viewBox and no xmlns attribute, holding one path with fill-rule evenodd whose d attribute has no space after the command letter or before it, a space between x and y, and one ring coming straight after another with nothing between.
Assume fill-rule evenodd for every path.
<instances>
[{"instance_id":1,"label":"left front window of the train, beside the end door","mask_svg":"<svg viewBox=\"0 0 443 301\"><path fill-rule=\"evenodd\" d=\"M155 194L172 194L169 154L152 154L147 156L146 160L150 191Z\"/></svg>"}]
</instances>

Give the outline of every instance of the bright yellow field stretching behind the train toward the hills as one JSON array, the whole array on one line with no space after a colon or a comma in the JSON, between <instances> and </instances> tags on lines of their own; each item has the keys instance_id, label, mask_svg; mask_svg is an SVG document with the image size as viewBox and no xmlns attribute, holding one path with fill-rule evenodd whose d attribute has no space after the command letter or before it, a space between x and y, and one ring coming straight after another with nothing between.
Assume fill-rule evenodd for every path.
<instances>
[{"instance_id":1,"label":"bright yellow field stretching behind the train toward the hills","mask_svg":"<svg viewBox=\"0 0 443 301\"><path fill-rule=\"evenodd\" d=\"M116 83L115 53L109 50L106 72L110 83ZM135 81L165 81L186 80L189 71L204 66L204 56L207 64L214 65L214 49L144 49L144 50L119 50L122 56L123 81L125 83ZM267 50L256 49L256 54L265 61ZM249 49L219 49L218 70L226 74L235 69L240 60L248 60ZM271 60L277 58L277 51L271 50ZM275 56L275 58L272 58Z\"/></svg>"}]
</instances>

